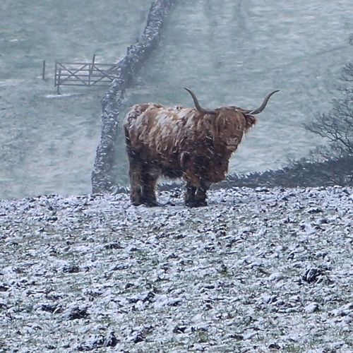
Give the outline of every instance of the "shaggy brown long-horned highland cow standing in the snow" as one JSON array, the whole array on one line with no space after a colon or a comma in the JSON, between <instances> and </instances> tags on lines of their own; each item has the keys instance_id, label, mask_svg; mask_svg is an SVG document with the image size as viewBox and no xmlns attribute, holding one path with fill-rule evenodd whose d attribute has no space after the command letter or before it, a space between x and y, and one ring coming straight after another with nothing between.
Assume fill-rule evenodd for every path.
<instances>
[{"instance_id":1,"label":"shaggy brown long-horned highland cow standing in the snow","mask_svg":"<svg viewBox=\"0 0 353 353\"><path fill-rule=\"evenodd\" d=\"M136 104L126 114L133 205L158 205L155 187L160 176L186 181L186 205L207 205L210 184L225 179L229 158L244 133L256 124L252 113L257 114L258 109L221 107L208 111L194 95L193 99L198 109L148 103Z\"/></svg>"}]
</instances>

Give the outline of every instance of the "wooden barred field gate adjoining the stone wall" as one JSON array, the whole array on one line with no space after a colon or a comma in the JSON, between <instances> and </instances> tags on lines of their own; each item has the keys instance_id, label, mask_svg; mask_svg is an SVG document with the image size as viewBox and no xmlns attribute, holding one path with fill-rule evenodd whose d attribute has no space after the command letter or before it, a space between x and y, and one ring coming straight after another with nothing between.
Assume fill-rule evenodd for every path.
<instances>
[{"instance_id":1,"label":"wooden barred field gate adjoining the stone wall","mask_svg":"<svg viewBox=\"0 0 353 353\"><path fill-rule=\"evenodd\" d=\"M60 93L61 85L107 86L116 77L117 67L117 64L95 63L95 55L90 63L55 61L54 87Z\"/></svg>"}]
</instances>

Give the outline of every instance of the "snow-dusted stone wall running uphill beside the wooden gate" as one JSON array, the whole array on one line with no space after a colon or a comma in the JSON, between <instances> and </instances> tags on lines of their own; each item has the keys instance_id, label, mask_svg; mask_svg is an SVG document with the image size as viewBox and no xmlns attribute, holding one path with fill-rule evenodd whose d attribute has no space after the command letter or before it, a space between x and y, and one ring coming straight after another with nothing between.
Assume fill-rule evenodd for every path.
<instances>
[{"instance_id":1,"label":"snow-dusted stone wall running uphill beside the wooden gate","mask_svg":"<svg viewBox=\"0 0 353 353\"><path fill-rule=\"evenodd\" d=\"M131 78L138 73L153 49L157 47L164 18L176 1L152 1L143 34L136 44L128 47L124 59L116 64L116 78L102 98L102 134L92 172L93 193L113 192L117 189L112 169L116 139L121 126L119 109L124 100L124 90L128 88Z\"/></svg>"}]
</instances>

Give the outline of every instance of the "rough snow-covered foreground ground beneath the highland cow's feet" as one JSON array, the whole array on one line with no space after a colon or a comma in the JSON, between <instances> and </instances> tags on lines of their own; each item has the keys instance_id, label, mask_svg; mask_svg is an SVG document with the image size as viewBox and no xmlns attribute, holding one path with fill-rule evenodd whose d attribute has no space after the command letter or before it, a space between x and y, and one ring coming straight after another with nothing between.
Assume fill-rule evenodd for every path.
<instances>
[{"instance_id":1,"label":"rough snow-covered foreground ground beneath the highland cow's feet","mask_svg":"<svg viewBox=\"0 0 353 353\"><path fill-rule=\"evenodd\" d=\"M0 351L352 352L353 188L160 200L0 201Z\"/></svg>"}]
</instances>

